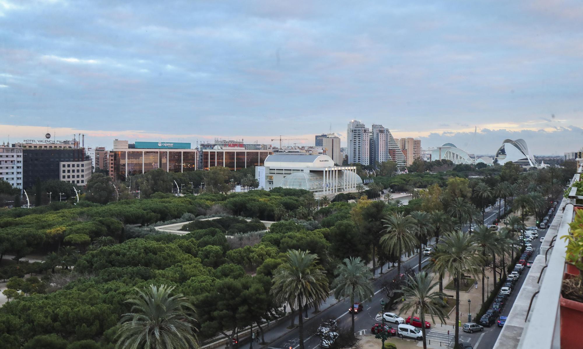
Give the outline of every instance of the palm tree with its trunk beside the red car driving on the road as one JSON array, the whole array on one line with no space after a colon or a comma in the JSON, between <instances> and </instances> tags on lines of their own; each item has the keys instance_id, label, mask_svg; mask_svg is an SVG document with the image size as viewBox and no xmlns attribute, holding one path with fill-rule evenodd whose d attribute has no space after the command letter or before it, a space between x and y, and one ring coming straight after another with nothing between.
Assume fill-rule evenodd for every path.
<instances>
[{"instance_id":1,"label":"palm tree with its trunk beside the red car driving on the road","mask_svg":"<svg viewBox=\"0 0 583 349\"><path fill-rule=\"evenodd\" d=\"M340 297L350 297L352 307L355 296L360 301L373 297L373 284L370 282L373 273L368 270L360 257L345 258L343 264L334 270L334 275L336 275L336 279L332 284L332 289L334 289L334 297L337 300ZM354 333L354 312L352 312L351 333Z\"/></svg>"}]
</instances>

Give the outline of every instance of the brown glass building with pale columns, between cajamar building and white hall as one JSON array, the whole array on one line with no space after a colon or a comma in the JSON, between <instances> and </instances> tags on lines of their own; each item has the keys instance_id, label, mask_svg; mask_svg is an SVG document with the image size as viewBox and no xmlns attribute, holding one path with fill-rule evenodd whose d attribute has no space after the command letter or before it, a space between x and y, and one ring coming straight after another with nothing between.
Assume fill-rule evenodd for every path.
<instances>
[{"instance_id":1,"label":"brown glass building with pale columns, between cajamar building and white hall","mask_svg":"<svg viewBox=\"0 0 583 349\"><path fill-rule=\"evenodd\" d=\"M263 166L265 159L271 154L271 150L203 149L202 169L223 166L236 171L251 166Z\"/></svg>"}]
</instances>

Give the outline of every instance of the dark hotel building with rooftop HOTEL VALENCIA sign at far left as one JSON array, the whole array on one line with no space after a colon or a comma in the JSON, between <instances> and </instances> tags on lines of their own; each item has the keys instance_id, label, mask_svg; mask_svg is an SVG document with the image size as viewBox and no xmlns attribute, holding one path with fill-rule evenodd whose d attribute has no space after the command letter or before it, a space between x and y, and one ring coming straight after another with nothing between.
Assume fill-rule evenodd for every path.
<instances>
[{"instance_id":1,"label":"dark hotel building with rooftop HOTEL VALENCIA sign at far left","mask_svg":"<svg viewBox=\"0 0 583 349\"><path fill-rule=\"evenodd\" d=\"M91 161L78 141L24 140L12 147L22 148L22 186L32 188L37 180L62 180L61 163ZM71 180L71 179L69 179ZM79 177L79 184L80 184ZM76 184L76 183L75 183Z\"/></svg>"}]
</instances>

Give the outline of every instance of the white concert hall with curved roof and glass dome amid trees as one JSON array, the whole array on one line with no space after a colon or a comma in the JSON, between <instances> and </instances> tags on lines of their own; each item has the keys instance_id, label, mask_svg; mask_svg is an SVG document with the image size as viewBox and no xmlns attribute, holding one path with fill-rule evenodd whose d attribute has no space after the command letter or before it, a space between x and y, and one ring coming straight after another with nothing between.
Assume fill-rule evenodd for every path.
<instances>
[{"instance_id":1,"label":"white concert hall with curved roof and glass dome amid trees","mask_svg":"<svg viewBox=\"0 0 583 349\"><path fill-rule=\"evenodd\" d=\"M304 189L315 197L334 197L338 193L356 191L362 184L355 166L334 166L328 155L274 154L264 166L255 167L259 188L275 187Z\"/></svg>"}]
</instances>

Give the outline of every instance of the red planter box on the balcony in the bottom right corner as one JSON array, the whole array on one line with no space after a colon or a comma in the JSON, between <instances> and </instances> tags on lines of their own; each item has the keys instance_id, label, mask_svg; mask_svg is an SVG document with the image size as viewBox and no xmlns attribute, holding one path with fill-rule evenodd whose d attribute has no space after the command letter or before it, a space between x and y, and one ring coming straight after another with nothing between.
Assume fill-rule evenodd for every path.
<instances>
[{"instance_id":1,"label":"red planter box on the balcony in the bottom right corner","mask_svg":"<svg viewBox=\"0 0 583 349\"><path fill-rule=\"evenodd\" d=\"M570 279L571 276L565 273L564 278ZM571 301L563 298L559 299L561 305L561 348L563 349L581 349L583 341L581 340L581 323L583 323L583 303Z\"/></svg>"}]
</instances>

